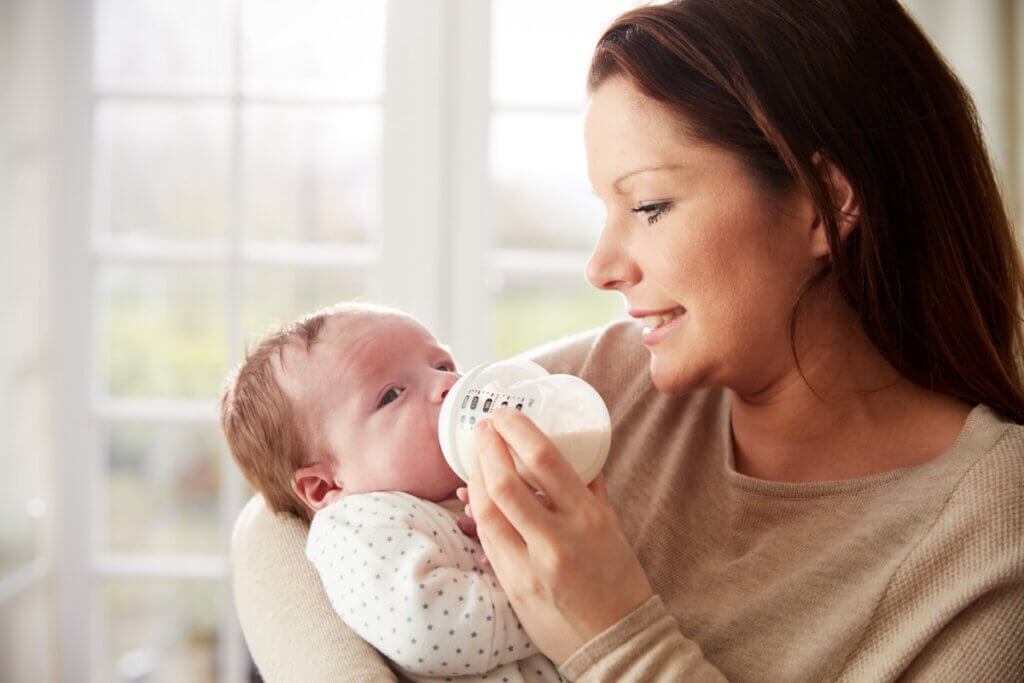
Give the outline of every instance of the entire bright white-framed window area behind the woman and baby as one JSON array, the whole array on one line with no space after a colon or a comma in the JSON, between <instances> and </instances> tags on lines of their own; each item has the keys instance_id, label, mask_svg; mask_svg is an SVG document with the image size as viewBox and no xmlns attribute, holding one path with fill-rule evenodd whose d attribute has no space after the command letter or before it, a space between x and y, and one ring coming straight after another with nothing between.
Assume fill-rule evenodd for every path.
<instances>
[{"instance_id":1,"label":"entire bright white-framed window area behind the woman and baby","mask_svg":"<svg viewBox=\"0 0 1024 683\"><path fill-rule=\"evenodd\" d=\"M61 615L95 628L65 630L65 666L246 677L226 547L249 492L216 399L269 326L364 297L465 367L621 313L583 279L602 216L582 112L592 46L628 5L85 5L69 228L88 258L67 247L67 305L88 343L69 351L83 417L61 456L83 490L61 516L79 540Z\"/></svg>"}]
</instances>

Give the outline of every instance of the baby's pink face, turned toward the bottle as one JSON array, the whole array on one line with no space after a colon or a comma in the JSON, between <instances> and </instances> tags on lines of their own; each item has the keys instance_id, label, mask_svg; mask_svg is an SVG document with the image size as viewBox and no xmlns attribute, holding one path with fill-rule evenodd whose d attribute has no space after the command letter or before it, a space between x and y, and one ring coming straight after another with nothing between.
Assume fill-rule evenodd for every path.
<instances>
[{"instance_id":1,"label":"baby's pink face, turned toward the bottle","mask_svg":"<svg viewBox=\"0 0 1024 683\"><path fill-rule=\"evenodd\" d=\"M459 374L414 318L334 315L309 353L290 353L286 368L286 393L299 397L304 424L321 435L316 452L334 454L342 496L401 490L442 501L462 485L437 441L441 401Z\"/></svg>"}]
</instances>

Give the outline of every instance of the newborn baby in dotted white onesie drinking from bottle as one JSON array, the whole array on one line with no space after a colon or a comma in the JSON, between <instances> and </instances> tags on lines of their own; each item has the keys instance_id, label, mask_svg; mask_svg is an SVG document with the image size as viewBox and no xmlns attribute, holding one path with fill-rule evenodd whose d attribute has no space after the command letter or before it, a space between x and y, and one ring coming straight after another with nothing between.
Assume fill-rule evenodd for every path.
<instances>
[{"instance_id":1,"label":"newborn baby in dotted white onesie drinking from bottle","mask_svg":"<svg viewBox=\"0 0 1024 683\"><path fill-rule=\"evenodd\" d=\"M250 484L311 519L306 556L344 622L415 681L560 681L475 539L437 416L459 379L415 318L339 304L264 339L221 400Z\"/></svg>"}]
</instances>

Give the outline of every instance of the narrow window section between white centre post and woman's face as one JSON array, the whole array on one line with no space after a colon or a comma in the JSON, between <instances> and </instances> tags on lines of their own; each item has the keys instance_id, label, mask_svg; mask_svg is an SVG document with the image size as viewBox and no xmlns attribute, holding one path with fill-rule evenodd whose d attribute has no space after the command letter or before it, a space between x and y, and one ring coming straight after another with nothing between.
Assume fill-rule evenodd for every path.
<instances>
[{"instance_id":1,"label":"narrow window section between white centre post and woman's face","mask_svg":"<svg viewBox=\"0 0 1024 683\"><path fill-rule=\"evenodd\" d=\"M583 114L594 45L636 4L492 3L494 356L622 315L620 297L595 291L583 275L603 220L587 179Z\"/></svg>"}]
</instances>

